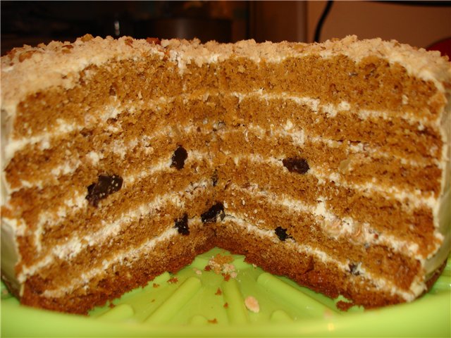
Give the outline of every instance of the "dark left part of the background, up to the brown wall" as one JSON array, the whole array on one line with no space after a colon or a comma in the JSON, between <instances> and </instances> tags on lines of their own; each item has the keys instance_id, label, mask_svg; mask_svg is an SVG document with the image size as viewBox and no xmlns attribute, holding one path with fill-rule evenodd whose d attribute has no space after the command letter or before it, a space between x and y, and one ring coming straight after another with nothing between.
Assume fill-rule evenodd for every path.
<instances>
[{"instance_id":1,"label":"dark left part of the background, up to the brown wall","mask_svg":"<svg viewBox=\"0 0 451 338\"><path fill-rule=\"evenodd\" d=\"M248 39L248 1L1 1L1 52L94 36Z\"/></svg>"}]
</instances>

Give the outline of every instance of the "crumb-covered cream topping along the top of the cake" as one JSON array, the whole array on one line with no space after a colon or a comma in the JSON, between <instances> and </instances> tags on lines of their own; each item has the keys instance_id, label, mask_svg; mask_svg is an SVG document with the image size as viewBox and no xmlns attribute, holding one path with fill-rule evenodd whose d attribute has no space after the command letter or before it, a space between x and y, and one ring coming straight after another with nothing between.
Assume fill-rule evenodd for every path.
<instances>
[{"instance_id":1,"label":"crumb-covered cream topping along the top of the cake","mask_svg":"<svg viewBox=\"0 0 451 338\"><path fill-rule=\"evenodd\" d=\"M443 82L451 77L451 63L438 51L415 49L396 41L381 39L358 40L355 36L328 40L321 44L295 42L264 42L254 40L235 44L207 42L198 39L132 39L131 37L92 37L85 35L75 42L50 42L38 46L13 49L1 58L1 106L13 115L16 105L27 94L52 86L73 87L79 73L89 65L101 65L111 59L118 61L149 55L168 58L178 64L181 72L187 64L214 63L235 57L250 58L256 62L278 62L295 56L317 55L323 58L345 55L354 61L367 56L385 58L390 63L400 63L409 74L423 80L432 80L443 92ZM39 70L37 70L39 65Z\"/></svg>"}]
</instances>

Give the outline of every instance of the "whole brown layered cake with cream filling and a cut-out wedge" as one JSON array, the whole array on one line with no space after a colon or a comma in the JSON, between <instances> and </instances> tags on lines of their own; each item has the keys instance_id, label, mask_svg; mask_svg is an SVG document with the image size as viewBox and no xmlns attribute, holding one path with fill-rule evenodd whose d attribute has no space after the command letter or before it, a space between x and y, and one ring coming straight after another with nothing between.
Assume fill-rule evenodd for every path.
<instances>
[{"instance_id":1,"label":"whole brown layered cake with cream filling and a cut-out wedge","mask_svg":"<svg viewBox=\"0 0 451 338\"><path fill-rule=\"evenodd\" d=\"M1 58L1 275L87 313L218 246L366 308L450 252L451 67L321 44L86 35Z\"/></svg>"}]
</instances>

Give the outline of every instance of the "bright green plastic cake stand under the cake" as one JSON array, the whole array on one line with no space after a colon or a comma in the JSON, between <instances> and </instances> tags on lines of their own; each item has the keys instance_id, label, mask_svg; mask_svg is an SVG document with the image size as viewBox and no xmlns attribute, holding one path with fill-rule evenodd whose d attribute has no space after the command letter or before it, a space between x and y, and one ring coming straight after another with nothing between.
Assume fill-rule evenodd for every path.
<instances>
[{"instance_id":1,"label":"bright green plastic cake stand under the cake","mask_svg":"<svg viewBox=\"0 0 451 338\"><path fill-rule=\"evenodd\" d=\"M2 284L1 337L451 337L451 259L413 303L343 312L336 303L344 299L268 274L243 256L232 255L227 273L206 269L218 253L229 255L213 249L88 316L22 306Z\"/></svg>"}]
</instances>

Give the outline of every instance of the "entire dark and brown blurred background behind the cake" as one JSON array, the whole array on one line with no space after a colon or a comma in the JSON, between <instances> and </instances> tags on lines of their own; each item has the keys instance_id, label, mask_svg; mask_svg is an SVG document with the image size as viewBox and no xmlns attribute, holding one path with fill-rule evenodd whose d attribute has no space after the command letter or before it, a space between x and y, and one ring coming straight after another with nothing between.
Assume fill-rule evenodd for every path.
<instances>
[{"instance_id":1,"label":"entire dark and brown blurred background behind the cake","mask_svg":"<svg viewBox=\"0 0 451 338\"><path fill-rule=\"evenodd\" d=\"M1 1L1 55L94 36L202 42L397 39L451 55L451 1Z\"/></svg>"}]
</instances>

